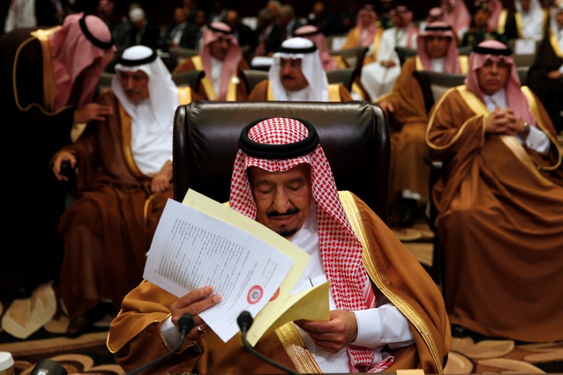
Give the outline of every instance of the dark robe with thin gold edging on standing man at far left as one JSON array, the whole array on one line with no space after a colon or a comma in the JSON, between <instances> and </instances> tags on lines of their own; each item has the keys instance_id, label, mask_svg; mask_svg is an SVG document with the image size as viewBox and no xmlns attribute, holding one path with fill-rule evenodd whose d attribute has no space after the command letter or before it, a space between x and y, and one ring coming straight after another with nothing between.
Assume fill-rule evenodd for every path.
<instances>
[{"instance_id":1,"label":"dark robe with thin gold edging on standing man at far left","mask_svg":"<svg viewBox=\"0 0 563 375\"><path fill-rule=\"evenodd\" d=\"M67 103L55 109L53 65L51 55L44 53L49 40L32 37L36 30L14 29L0 38L2 137L18 148L17 157L8 147L2 151L9 189L18 195L6 199L9 219L4 230L6 239L25 241L23 246L6 246L11 261L0 262L3 301L22 287L32 291L39 283L58 279L63 254L57 223L66 187L53 176L49 161L71 142L77 107Z\"/></svg>"}]
</instances>

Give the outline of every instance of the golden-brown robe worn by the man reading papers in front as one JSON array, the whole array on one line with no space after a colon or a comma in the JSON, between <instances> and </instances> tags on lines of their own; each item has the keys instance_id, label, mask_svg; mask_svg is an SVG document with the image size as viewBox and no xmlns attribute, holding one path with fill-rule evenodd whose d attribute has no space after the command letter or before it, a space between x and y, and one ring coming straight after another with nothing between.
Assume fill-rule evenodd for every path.
<instances>
[{"instance_id":1,"label":"golden-brown robe worn by the man reading papers in front","mask_svg":"<svg viewBox=\"0 0 563 375\"><path fill-rule=\"evenodd\" d=\"M358 197L341 192L348 220L364 246L364 263L379 289L410 322L415 344L392 350L395 362L386 371L422 368L441 373L450 350L450 326L436 284L393 232ZM108 349L125 371L167 353L160 323L170 316L168 306L177 299L151 282L142 282L123 300L122 310L110 325ZM303 347L292 322L260 338L255 349L300 373L319 373ZM235 336L223 343L211 329L179 353L149 370L150 373L191 371L198 374L272 374L280 372L248 353Z\"/></svg>"}]
</instances>

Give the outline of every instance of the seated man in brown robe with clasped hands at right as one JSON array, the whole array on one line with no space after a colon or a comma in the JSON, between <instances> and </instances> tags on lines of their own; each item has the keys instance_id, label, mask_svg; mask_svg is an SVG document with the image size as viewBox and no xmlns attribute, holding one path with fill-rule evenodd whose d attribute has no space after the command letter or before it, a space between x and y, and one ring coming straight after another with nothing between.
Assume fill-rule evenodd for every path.
<instances>
[{"instance_id":1,"label":"seated man in brown robe with clasped hands at right","mask_svg":"<svg viewBox=\"0 0 563 375\"><path fill-rule=\"evenodd\" d=\"M433 191L453 334L563 339L563 166L550 117L520 86L510 49L483 41L465 85L431 112L447 162Z\"/></svg>"}]
</instances>

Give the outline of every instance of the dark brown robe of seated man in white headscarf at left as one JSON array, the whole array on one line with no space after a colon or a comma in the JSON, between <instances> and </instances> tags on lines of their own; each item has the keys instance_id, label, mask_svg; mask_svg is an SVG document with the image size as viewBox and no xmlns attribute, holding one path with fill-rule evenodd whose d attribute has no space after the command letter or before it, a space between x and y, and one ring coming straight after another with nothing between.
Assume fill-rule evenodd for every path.
<instances>
[{"instance_id":1,"label":"dark brown robe of seated man in white headscarf at left","mask_svg":"<svg viewBox=\"0 0 563 375\"><path fill-rule=\"evenodd\" d=\"M191 91L183 95L189 90L179 90L180 103L191 101ZM125 294L141 282L158 219L167 199L174 197L172 185L165 192L151 192L152 177L137 168L131 117L113 91L98 103L113 107L113 116L89 124L75 143L62 149L78 159L79 196L58 227L64 240L61 297L70 317L84 315L103 298L119 310Z\"/></svg>"}]
</instances>

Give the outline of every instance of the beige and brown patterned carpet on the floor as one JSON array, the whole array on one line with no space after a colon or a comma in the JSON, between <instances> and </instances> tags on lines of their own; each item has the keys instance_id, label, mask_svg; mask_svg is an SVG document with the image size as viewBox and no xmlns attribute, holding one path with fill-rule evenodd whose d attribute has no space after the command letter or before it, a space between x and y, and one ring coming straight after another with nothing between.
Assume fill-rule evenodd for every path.
<instances>
[{"instance_id":1,"label":"beige and brown patterned carpet on the floor","mask_svg":"<svg viewBox=\"0 0 563 375\"><path fill-rule=\"evenodd\" d=\"M393 231L426 269L432 264L433 233L422 222ZM39 360L49 358L68 374L123 374L106 348L106 315L91 333L78 338L64 335L68 319L61 313L50 284L39 287L31 298L0 304L0 352L10 352L15 374L30 374ZM563 324L563 322L562 322ZM453 338L453 350L445 374L563 374L563 342L524 344L482 337Z\"/></svg>"}]
</instances>

